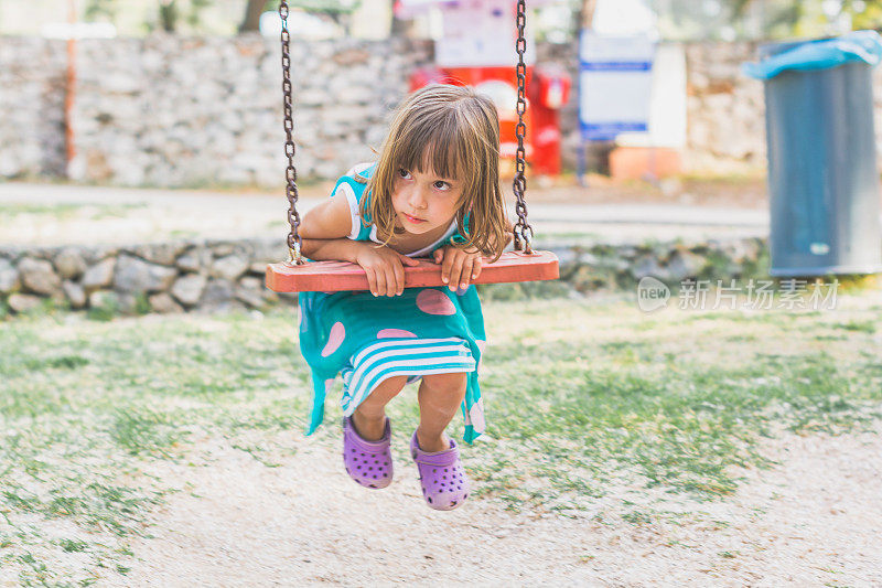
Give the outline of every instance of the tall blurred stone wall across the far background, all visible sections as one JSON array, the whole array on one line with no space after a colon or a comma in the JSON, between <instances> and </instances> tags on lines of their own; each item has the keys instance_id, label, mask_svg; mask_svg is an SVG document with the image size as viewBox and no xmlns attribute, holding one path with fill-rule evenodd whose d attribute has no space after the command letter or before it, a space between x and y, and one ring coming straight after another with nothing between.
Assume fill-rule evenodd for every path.
<instances>
[{"instance_id":1,"label":"tall blurred stone wall across the far background, all visible sections","mask_svg":"<svg viewBox=\"0 0 882 588\"><path fill-rule=\"evenodd\" d=\"M573 76L561 111L564 167L579 147L574 44L539 44L539 63ZM430 42L293 41L297 165L301 178L337 177L373 157L408 76L431 63ZM73 179L123 185L200 186L283 181L279 43L258 35L89 40L78 44ZM740 64L752 43L686 46L689 171L765 165L762 83ZM64 171L65 44L0 38L0 178ZM882 70L876 70L882 110ZM878 127L882 139L882 128Z\"/></svg>"}]
</instances>

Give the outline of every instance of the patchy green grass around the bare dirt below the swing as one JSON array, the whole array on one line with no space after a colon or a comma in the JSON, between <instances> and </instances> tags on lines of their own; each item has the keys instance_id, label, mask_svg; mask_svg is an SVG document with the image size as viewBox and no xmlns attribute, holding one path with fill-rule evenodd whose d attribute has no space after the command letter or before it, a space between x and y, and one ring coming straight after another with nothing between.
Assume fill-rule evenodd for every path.
<instances>
[{"instance_id":1,"label":"patchy green grass around the bare dirt below the swing","mask_svg":"<svg viewBox=\"0 0 882 588\"><path fill-rule=\"evenodd\" d=\"M645 314L626 295L487 302L487 442L464 452L475 496L562 516L621 483L724 498L739 483L731 466L764 463L762 436L878 418L880 310L879 290L815 312ZM147 466L186 463L207 437L268 468L303 443L335 447L336 398L302 437L294 324L291 309L0 322L0 584L125 575L128 538L149 535L176 491ZM401 430L416 424L413 389L389 407Z\"/></svg>"}]
</instances>

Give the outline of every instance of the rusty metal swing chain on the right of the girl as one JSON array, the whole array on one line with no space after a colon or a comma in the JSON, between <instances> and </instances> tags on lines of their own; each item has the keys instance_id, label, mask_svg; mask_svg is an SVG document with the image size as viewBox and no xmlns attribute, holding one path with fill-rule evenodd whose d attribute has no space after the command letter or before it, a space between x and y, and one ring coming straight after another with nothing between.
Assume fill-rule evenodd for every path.
<instances>
[{"instance_id":1,"label":"rusty metal swing chain on the right of the girl","mask_svg":"<svg viewBox=\"0 0 882 588\"><path fill-rule=\"evenodd\" d=\"M517 0L517 152L515 153L515 180L512 188L515 192L515 211L517 212L517 225L513 228L515 237L515 250L531 254L533 227L527 222L527 202L524 200L524 192L527 190L527 179L524 177L526 169L526 151L524 150L524 136L527 133L527 126L524 124L524 114L527 111L527 65L524 63L524 52L527 51L527 39L524 36L524 26L527 23L526 0Z\"/></svg>"}]
</instances>

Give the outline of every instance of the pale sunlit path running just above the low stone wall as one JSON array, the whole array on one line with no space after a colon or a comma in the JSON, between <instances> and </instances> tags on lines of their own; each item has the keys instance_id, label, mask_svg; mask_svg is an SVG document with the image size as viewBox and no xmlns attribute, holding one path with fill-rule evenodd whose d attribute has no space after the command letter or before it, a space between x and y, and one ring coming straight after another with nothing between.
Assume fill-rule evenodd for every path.
<instances>
[{"instance_id":1,"label":"pale sunlit path running just above the low stone wall","mask_svg":"<svg viewBox=\"0 0 882 588\"><path fill-rule=\"evenodd\" d=\"M300 211L322 202L329 188L329 184L302 188ZM764 210L682 204L560 204L542 202L547 192L535 189L529 203L530 223L542 240L588 237L616 243L768 233L768 214ZM57 212L61 209L53 210L71 204L85 206L76 210L68 206L64 214ZM0 214L0 244L62 245L283 235L288 204L282 194L266 192L10 182L0 184L0 213L3 209L14 214Z\"/></svg>"}]
</instances>

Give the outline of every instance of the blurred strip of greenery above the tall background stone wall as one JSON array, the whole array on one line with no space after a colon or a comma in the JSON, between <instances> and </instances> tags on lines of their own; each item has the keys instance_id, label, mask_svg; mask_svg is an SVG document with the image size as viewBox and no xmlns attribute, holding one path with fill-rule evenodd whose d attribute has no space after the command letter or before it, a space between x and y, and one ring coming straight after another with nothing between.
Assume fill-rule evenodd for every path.
<instances>
[{"instance_id":1,"label":"blurred strip of greenery above the tall background stone wall","mask_svg":"<svg viewBox=\"0 0 882 588\"><path fill-rule=\"evenodd\" d=\"M235 35L259 28L259 17L278 2L268 0L77 0L83 22L108 23L116 35L144 36L158 30L184 35ZM314 21L336 24L340 36L368 39L392 33L394 4L374 0L312 0L289 2ZM440 8L434 7L440 10ZM42 34L49 23L67 20L67 0L0 1L0 32L6 35ZM649 13L667 41L735 41L794 35L817 36L853 29L872 29L882 21L882 2L865 0L585 0L544 2L537 10L540 39L574 41L583 15L604 19L624 14L643 21ZM305 17L304 17L305 18ZM438 17L418 18L430 21ZM372 21L368 32L358 21ZM401 22L396 22L399 26ZM633 26L627 22L610 26ZM428 24L412 29L426 31ZM398 29L396 31L400 32ZM305 32L305 31L304 31ZM310 35L318 34L313 31ZM329 36L332 36L327 33Z\"/></svg>"}]
</instances>

